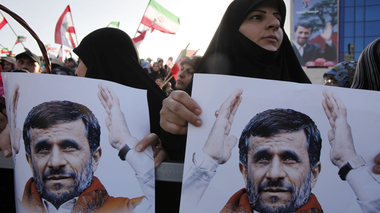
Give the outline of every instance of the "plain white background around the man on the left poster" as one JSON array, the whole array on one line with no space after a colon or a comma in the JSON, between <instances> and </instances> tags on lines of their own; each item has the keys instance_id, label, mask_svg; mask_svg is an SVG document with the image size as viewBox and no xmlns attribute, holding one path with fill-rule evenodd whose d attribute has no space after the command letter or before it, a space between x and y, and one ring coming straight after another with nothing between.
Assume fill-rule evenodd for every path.
<instances>
[{"instance_id":1,"label":"plain white background around the man on the left poster","mask_svg":"<svg viewBox=\"0 0 380 213\"><path fill-rule=\"evenodd\" d=\"M127 161L120 160L117 149L109 144L109 132L105 125L107 113L100 103L97 92L99 82L112 88L119 97L120 109L125 115L131 135L141 140L150 133L146 90L130 88L111 81L65 75L3 72L2 78L8 115L10 93L15 83L20 85L16 125L21 131L28 112L40 103L69 100L89 108L98 119L101 130L102 155L94 176L98 177L110 196L134 198L144 195L135 177L135 171ZM153 156L152 149L148 150ZM16 206L19 208L18 200L22 200L25 183L32 177L32 171L25 157L22 136L19 153L17 155L13 153L13 160Z\"/></svg>"}]
</instances>

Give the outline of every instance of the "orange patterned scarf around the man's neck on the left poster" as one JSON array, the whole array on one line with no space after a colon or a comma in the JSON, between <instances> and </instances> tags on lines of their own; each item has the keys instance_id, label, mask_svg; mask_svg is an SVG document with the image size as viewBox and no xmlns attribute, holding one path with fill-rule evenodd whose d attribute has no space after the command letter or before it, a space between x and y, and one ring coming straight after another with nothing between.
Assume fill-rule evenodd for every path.
<instances>
[{"instance_id":1,"label":"orange patterned scarf around the man's neck on the left poster","mask_svg":"<svg viewBox=\"0 0 380 213\"><path fill-rule=\"evenodd\" d=\"M99 179L94 176L89 188L79 195L71 213L133 212L133 209L141 203L143 198L144 196L132 199L109 196ZM47 213L33 178L30 178L25 185L21 205L23 212Z\"/></svg>"}]
</instances>

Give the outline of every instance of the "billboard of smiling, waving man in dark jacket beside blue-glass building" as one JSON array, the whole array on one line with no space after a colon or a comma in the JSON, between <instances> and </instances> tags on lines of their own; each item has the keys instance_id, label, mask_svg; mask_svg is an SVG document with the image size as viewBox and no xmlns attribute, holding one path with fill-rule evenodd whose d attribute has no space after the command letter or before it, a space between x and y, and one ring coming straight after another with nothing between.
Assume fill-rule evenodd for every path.
<instances>
[{"instance_id":1,"label":"billboard of smiling, waving man in dark jacket beside blue-glass building","mask_svg":"<svg viewBox=\"0 0 380 213\"><path fill-rule=\"evenodd\" d=\"M292 0L292 44L301 66L337 63L337 0Z\"/></svg>"}]
</instances>

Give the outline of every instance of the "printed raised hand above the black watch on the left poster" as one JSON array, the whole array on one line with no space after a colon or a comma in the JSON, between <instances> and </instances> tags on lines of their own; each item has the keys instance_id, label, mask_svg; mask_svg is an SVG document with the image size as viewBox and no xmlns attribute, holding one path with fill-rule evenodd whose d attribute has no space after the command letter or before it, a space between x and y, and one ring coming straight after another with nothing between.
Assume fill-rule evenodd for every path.
<instances>
[{"instance_id":1,"label":"printed raised hand above the black watch on the left poster","mask_svg":"<svg viewBox=\"0 0 380 213\"><path fill-rule=\"evenodd\" d=\"M108 114L106 126L109 131L109 143L120 151L125 145L125 141L132 136L128 130L124 113L120 110L119 98L109 86L104 86L103 83L99 83L98 88L100 90L98 91L99 100Z\"/></svg>"}]
</instances>

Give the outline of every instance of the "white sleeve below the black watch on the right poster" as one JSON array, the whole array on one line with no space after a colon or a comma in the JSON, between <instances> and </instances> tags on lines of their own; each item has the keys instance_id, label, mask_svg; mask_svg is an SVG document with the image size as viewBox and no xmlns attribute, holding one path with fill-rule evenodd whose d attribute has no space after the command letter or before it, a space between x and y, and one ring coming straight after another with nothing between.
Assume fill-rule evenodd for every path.
<instances>
[{"instance_id":1,"label":"white sleeve below the black watch on the right poster","mask_svg":"<svg viewBox=\"0 0 380 213\"><path fill-rule=\"evenodd\" d=\"M365 166L352 169L346 176L363 213L380 213L380 183Z\"/></svg>"}]
</instances>

